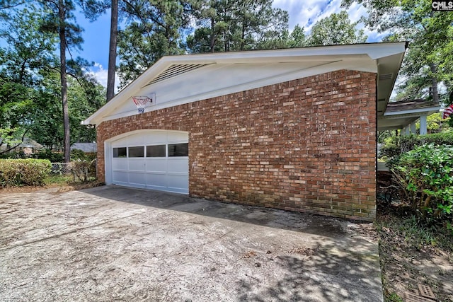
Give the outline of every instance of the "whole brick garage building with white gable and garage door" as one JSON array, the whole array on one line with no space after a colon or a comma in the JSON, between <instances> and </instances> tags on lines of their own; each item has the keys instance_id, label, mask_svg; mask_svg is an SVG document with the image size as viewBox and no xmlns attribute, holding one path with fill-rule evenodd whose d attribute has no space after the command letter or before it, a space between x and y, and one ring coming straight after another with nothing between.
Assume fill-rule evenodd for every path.
<instances>
[{"instance_id":1,"label":"whole brick garage building with white gable and garage door","mask_svg":"<svg viewBox=\"0 0 453 302\"><path fill-rule=\"evenodd\" d=\"M84 121L98 178L373 220L377 124L406 43L164 57ZM132 97L149 96L144 113Z\"/></svg>"}]
</instances>

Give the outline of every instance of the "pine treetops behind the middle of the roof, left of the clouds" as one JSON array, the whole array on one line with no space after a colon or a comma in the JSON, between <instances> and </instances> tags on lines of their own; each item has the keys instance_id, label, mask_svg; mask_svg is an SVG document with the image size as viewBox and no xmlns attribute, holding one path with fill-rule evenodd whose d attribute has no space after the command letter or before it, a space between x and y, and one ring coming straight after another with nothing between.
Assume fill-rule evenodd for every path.
<instances>
[{"instance_id":1,"label":"pine treetops behind the middle of the roof, left of the clouds","mask_svg":"<svg viewBox=\"0 0 453 302\"><path fill-rule=\"evenodd\" d=\"M273 8L272 3L271 0L194 1L197 28L187 38L188 49L200 53L287 47L288 13ZM299 33L297 28L294 35Z\"/></svg>"}]
</instances>

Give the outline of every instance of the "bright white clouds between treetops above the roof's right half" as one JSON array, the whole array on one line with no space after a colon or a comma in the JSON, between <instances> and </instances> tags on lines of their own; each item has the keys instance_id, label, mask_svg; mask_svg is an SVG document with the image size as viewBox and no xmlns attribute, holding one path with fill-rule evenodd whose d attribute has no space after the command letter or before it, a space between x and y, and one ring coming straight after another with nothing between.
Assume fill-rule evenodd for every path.
<instances>
[{"instance_id":1,"label":"bright white clouds between treetops above the roof's right half","mask_svg":"<svg viewBox=\"0 0 453 302\"><path fill-rule=\"evenodd\" d=\"M316 21L342 10L348 11L351 22L360 21L362 16L367 16L367 10L362 4L353 3L348 9L342 8L340 5L341 0L274 0L273 2L274 7L282 8L289 13L290 31L299 24L304 27L305 33L309 33ZM365 31L365 35L368 36L367 42L379 42L388 34L369 30L363 23L357 24L357 28Z\"/></svg>"}]
</instances>

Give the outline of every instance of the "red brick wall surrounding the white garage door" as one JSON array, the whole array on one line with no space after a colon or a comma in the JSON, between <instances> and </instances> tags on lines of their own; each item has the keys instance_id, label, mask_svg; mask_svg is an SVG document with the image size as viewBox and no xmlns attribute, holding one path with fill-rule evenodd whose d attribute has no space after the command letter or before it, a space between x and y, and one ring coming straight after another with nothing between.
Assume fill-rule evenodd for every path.
<instances>
[{"instance_id":1,"label":"red brick wall surrounding the white garage door","mask_svg":"<svg viewBox=\"0 0 453 302\"><path fill-rule=\"evenodd\" d=\"M193 197L372 220L376 74L334 71L103 122L103 142L137 129L189 132Z\"/></svg>"}]
</instances>

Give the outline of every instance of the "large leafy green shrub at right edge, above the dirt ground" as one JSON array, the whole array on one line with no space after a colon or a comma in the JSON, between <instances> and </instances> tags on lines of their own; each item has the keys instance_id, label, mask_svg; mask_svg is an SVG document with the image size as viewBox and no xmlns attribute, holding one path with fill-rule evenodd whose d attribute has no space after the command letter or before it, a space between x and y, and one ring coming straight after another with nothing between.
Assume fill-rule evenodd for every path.
<instances>
[{"instance_id":1,"label":"large leafy green shrub at right edge, above the dirt ground","mask_svg":"<svg viewBox=\"0 0 453 302\"><path fill-rule=\"evenodd\" d=\"M424 144L403 153L392 168L406 199L427 221L452 216L453 146Z\"/></svg>"}]
</instances>

